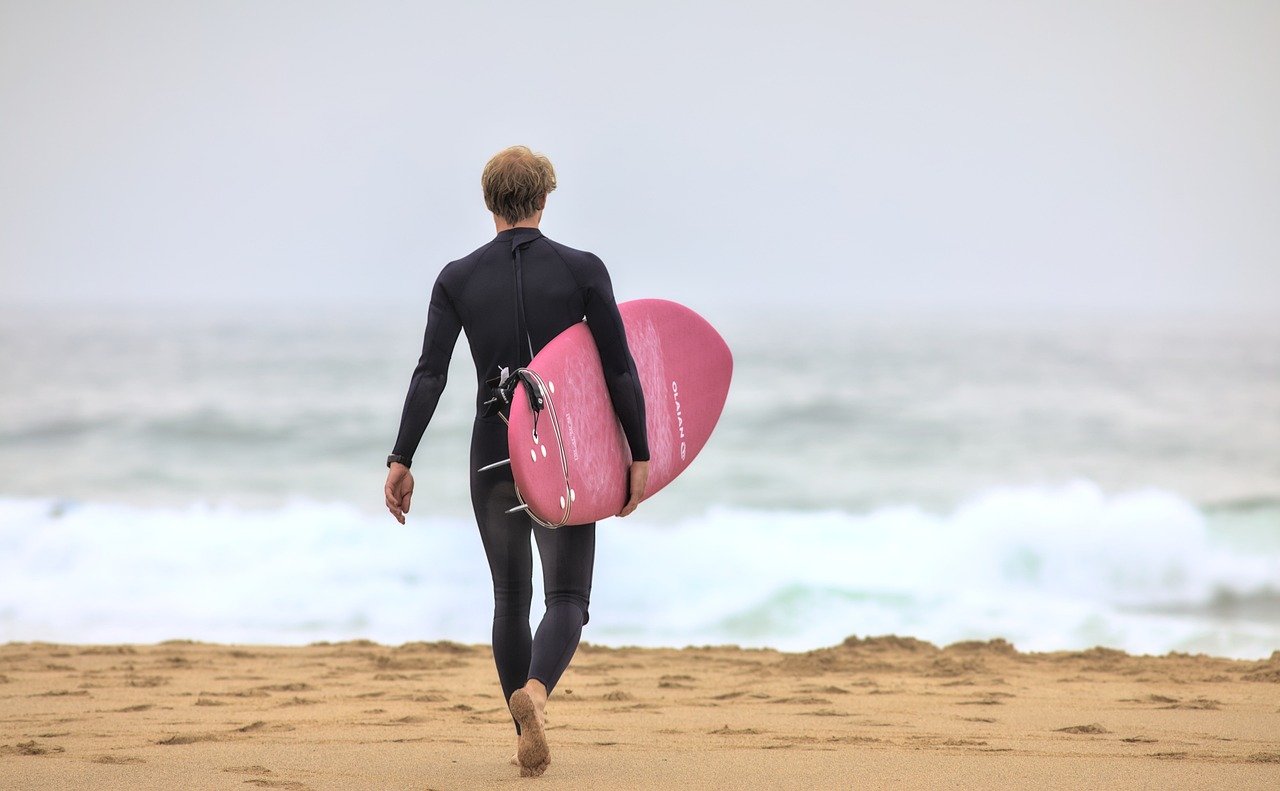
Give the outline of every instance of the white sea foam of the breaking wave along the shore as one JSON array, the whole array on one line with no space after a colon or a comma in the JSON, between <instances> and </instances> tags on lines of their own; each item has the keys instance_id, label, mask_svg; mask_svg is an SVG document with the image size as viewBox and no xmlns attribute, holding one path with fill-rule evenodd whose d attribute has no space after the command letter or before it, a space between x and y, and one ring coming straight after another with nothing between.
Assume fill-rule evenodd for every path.
<instances>
[{"instance_id":1,"label":"white sea foam of the breaking wave along the shore","mask_svg":"<svg viewBox=\"0 0 1280 791\"><path fill-rule=\"evenodd\" d=\"M641 508L598 527L584 637L799 650L897 632L1262 657L1280 646L1277 581L1280 553L1233 544L1160 490L1075 483L992 489L950 513L713 508L673 523ZM490 613L475 526L421 506L401 526L311 500L0 499L0 640L479 643Z\"/></svg>"}]
</instances>

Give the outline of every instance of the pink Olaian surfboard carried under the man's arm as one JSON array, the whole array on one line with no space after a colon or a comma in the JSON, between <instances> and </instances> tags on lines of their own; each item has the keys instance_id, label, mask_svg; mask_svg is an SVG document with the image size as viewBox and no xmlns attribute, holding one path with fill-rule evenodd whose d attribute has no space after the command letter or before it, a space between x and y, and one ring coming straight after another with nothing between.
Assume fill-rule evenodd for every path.
<instances>
[{"instance_id":1,"label":"pink Olaian surfboard carried under the man's arm","mask_svg":"<svg viewBox=\"0 0 1280 791\"><path fill-rule=\"evenodd\" d=\"M733 356L705 319L676 302L635 300L618 311L644 389L648 499L684 472L710 438L728 396ZM616 515L627 500L631 451L586 323L557 335L525 370L544 407L535 413L525 388L516 389L507 442L521 502L552 527Z\"/></svg>"}]
</instances>

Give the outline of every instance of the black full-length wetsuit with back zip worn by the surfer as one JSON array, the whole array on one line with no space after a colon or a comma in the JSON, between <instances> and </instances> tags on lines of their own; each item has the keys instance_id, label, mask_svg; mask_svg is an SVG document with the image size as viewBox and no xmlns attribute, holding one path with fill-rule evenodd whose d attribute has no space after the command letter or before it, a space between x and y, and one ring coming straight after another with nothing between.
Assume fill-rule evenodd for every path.
<instances>
[{"instance_id":1,"label":"black full-length wetsuit with back zip worn by the surfer","mask_svg":"<svg viewBox=\"0 0 1280 791\"><path fill-rule=\"evenodd\" d=\"M524 305L517 298L517 269ZM517 310L525 312L527 337ZM411 459L444 389L449 357L460 330L466 330L476 366L477 417L471 434L471 504L493 573L493 653L504 699L538 678L547 691L556 686L590 618L595 523L548 529L525 513L506 513L517 504L511 467L486 472L479 467L509 457L507 426L497 415L484 417L490 397L486 380L507 367L515 371L552 338L586 317L600 349L609 396L622 424L631 457L649 458L644 393L627 348L609 273L596 256L566 247L536 228L513 228L440 271L413 370L394 453ZM543 563L547 614L530 634L532 553L538 540ZM518 731L518 726L517 726Z\"/></svg>"}]
</instances>

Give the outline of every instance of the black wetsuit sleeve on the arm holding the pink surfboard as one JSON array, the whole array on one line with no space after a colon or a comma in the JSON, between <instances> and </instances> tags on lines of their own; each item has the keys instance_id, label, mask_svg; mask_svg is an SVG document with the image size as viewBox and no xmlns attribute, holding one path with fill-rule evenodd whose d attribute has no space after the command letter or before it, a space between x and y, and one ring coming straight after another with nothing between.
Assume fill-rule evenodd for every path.
<instances>
[{"instance_id":1,"label":"black wetsuit sleeve on the arm holding the pink surfboard","mask_svg":"<svg viewBox=\"0 0 1280 791\"><path fill-rule=\"evenodd\" d=\"M649 435L645 429L644 390L640 389L640 374L627 347L627 335L622 329L622 316L613 298L613 283L609 271L600 259L591 256L594 266L584 284L586 296L586 326L600 349L600 365L604 367L604 381L609 388L613 411L618 413L622 433L631 447L631 458L649 461Z\"/></svg>"}]
</instances>

